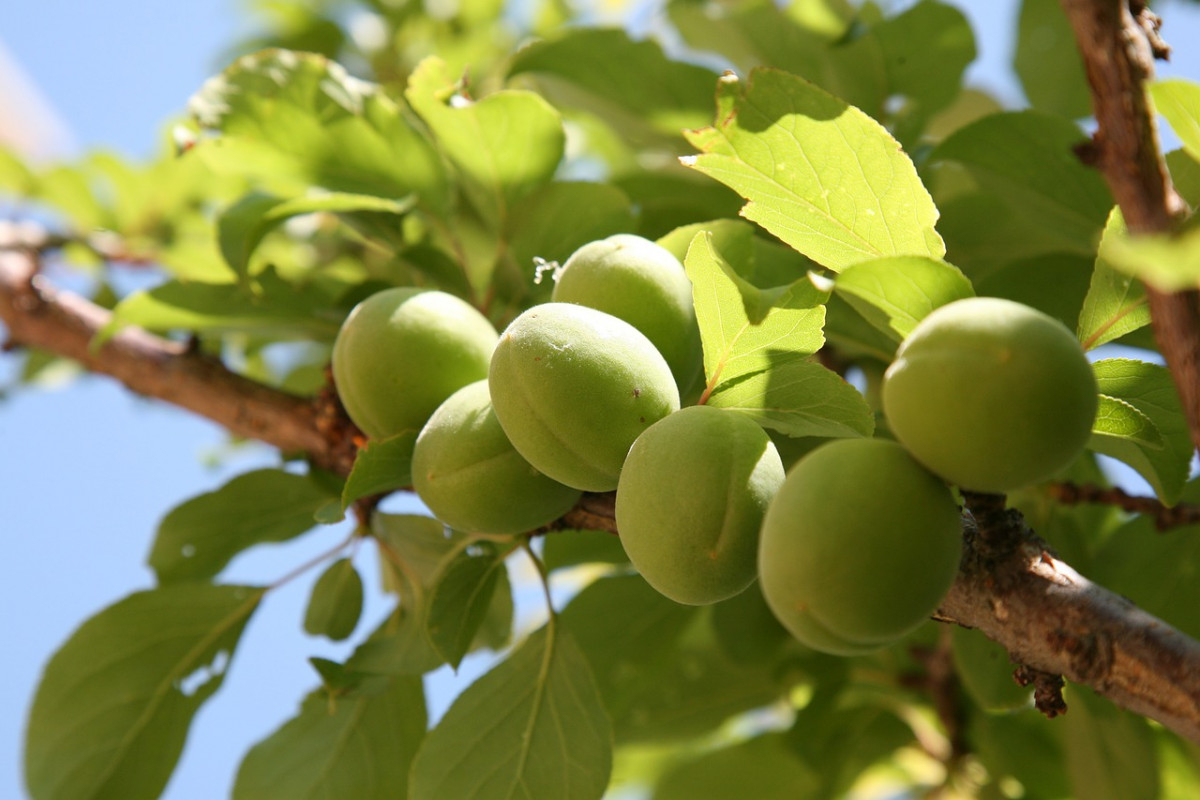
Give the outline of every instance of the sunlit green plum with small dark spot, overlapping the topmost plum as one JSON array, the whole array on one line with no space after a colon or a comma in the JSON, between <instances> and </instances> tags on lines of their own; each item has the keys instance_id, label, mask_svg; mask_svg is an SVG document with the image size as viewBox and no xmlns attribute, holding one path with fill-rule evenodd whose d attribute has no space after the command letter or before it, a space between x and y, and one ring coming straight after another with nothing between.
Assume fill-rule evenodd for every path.
<instances>
[{"instance_id":1,"label":"sunlit green plum with small dark spot, overlapping the topmost plum","mask_svg":"<svg viewBox=\"0 0 1200 800\"><path fill-rule=\"evenodd\" d=\"M584 492L617 488L634 440L679 410L671 368L646 336L612 314L565 302L514 319L487 380L517 452Z\"/></svg>"}]
</instances>

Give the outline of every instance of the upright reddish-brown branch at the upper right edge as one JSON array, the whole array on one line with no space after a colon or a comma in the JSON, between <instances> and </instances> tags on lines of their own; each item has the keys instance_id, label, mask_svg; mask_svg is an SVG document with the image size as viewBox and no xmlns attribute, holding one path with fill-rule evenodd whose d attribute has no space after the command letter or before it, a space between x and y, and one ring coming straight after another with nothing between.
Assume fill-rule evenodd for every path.
<instances>
[{"instance_id":1,"label":"upright reddish-brown branch at the upper right edge","mask_svg":"<svg viewBox=\"0 0 1200 800\"><path fill-rule=\"evenodd\" d=\"M1062 0L1075 31L1097 131L1085 154L1108 181L1133 234L1171 231L1187 209L1158 144L1145 83L1166 46L1158 19L1138 0ZM1146 288L1154 337L1175 378L1192 441L1200 447L1200 291Z\"/></svg>"}]
</instances>

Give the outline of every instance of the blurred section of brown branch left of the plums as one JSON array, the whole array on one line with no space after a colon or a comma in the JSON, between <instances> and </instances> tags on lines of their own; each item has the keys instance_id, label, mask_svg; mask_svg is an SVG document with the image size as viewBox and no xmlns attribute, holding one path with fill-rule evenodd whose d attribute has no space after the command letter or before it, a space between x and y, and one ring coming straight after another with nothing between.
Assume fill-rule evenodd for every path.
<instances>
[{"instance_id":1,"label":"blurred section of brown branch left of the plums","mask_svg":"<svg viewBox=\"0 0 1200 800\"><path fill-rule=\"evenodd\" d=\"M199 414L230 433L307 455L323 469L347 474L354 461L350 431L319 403L263 386L216 359L178 342L127 327L102 347L92 337L108 311L56 291L37 272L36 255L0 249L0 320L8 345L49 350L85 369L112 375L130 390Z\"/></svg>"}]
</instances>

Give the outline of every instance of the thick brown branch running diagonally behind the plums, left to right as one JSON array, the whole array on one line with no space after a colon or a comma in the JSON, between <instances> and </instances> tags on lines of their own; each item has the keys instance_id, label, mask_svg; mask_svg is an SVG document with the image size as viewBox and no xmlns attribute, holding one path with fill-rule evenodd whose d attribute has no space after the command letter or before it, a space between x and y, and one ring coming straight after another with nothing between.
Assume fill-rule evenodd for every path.
<instances>
[{"instance_id":1,"label":"thick brown branch running diagonally behind the plums, left to right","mask_svg":"<svg viewBox=\"0 0 1200 800\"><path fill-rule=\"evenodd\" d=\"M16 344L76 359L233 433L305 453L341 475L353 463L353 435L323 421L319 403L137 329L92 351L108 312L38 279L30 253L0 251L0 319ZM1200 644L1052 558L1002 503L995 513L1000 522L968 522L959 577L936 616L979 628L1027 667L1086 684L1200 741ZM547 530L569 528L617 533L612 493L586 494Z\"/></svg>"}]
</instances>

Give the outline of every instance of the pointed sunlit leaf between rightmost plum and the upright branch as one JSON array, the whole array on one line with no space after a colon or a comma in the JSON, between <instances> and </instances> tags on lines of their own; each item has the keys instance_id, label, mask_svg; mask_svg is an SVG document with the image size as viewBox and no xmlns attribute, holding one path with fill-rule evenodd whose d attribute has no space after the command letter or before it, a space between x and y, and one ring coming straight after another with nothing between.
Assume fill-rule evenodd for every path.
<instances>
[{"instance_id":1,"label":"pointed sunlit leaf between rightmost plum and the upright branch","mask_svg":"<svg viewBox=\"0 0 1200 800\"><path fill-rule=\"evenodd\" d=\"M1124 234L1121 209L1112 209L1100 237L1092 282L1079 314L1078 336L1085 350L1108 344L1150 325L1150 306L1141 282L1112 269L1108 259L1112 240Z\"/></svg>"}]
</instances>

